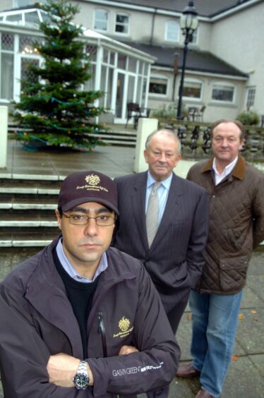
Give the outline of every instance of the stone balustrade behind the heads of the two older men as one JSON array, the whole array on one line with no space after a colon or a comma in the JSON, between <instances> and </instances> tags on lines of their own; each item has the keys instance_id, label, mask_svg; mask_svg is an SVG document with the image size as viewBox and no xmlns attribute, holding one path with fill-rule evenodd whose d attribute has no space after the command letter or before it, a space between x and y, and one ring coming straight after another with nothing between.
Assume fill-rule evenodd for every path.
<instances>
[{"instance_id":1,"label":"stone balustrade behind the heads of the two older men","mask_svg":"<svg viewBox=\"0 0 264 398\"><path fill-rule=\"evenodd\" d=\"M172 128L179 136L182 155L185 159L201 159L210 157L212 123L198 121L179 121L176 119L160 119L159 128ZM245 126L246 142L241 150L246 160L264 162L264 128Z\"/></svg>"}]
</instances>

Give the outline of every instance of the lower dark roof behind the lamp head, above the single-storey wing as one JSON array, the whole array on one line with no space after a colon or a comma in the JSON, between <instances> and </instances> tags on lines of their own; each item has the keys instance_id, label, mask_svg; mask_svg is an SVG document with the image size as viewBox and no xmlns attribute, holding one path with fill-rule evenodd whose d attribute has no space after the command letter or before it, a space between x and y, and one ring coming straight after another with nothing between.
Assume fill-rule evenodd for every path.
<instances>
[{"instance_id":1,"label":"lower dark roof behind the lamp head, above the single-storey wing","mask_svg":"<svg viewBox=\"0 0 264 398\"><path fill-rule=\"evenodd\" d=\"M157 57L154 66L173 68L174 56L179 54L179 69L182 68L184 49L172 47L160 47L150 44L130 43L131 47ZM186 57L186 70L205 73L215 73L227 76L247 78L247 73L239 71L234 66L218 58L210 52L189 49Z\"/></svg>"}]
</instances>

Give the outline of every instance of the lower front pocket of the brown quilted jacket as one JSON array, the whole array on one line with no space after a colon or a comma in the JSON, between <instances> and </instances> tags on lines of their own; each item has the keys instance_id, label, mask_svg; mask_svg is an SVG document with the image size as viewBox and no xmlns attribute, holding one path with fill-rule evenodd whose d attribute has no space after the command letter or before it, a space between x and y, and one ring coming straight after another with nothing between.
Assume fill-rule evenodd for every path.
<instances>
[{"instance_id":1,"label":"lower front pocket of the brown quilted jacket","mask_svg":"<svg viewBox=\"0 0 264 398\"><path fill-rule=\"evenodd\" d=\"M220 259L220 285L223 291L236 291L246 282L248 256Z\"/></svg>"}]
</instances>

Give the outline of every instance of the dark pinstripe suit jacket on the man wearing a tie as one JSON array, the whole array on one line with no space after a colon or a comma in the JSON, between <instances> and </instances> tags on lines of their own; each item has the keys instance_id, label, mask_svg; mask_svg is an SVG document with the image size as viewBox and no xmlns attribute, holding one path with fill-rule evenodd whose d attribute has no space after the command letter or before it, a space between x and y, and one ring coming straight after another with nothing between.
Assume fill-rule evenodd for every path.
<instances>
[{"instance_id":1,"label":"dark pinstripe suit jacket on the man wearing a tie","mask_svg":"<svg viewBox=\"0 0 264 398\"><path fill-rule=\"evenodd\" d=\"M208 193L173 174L151 247L145 224L147 172L115 179L119 199L113 246L143 261L167 313L176 311L202 273L208 236Z\"/></svg>"}]
</instances>

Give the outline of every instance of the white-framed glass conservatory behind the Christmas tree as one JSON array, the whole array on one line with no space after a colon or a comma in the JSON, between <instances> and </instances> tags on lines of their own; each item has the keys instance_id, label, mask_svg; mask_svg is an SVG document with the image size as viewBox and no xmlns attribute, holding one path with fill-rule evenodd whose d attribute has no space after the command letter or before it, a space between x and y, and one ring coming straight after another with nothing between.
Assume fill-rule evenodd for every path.
<instances>
[{"instance_id":1,"label":"white-framed glass conservatory behind the Christmas tree","mask_svg":"<svg viewBox=\"0 0 264 398\"><path fill-rule=\"evenodd\" d=\"M19 100L20 79L28 76L28 64L42 57L33 42L42 40L38 25L47 21L39 8L19 8L0 13L0 104ZM100 105L106 122L125 123L126 104L147 108L150 66L155 58L90 29L83 29L84 47L90 55L91 75L85 90L102 90Z\"/></svg>"}]
</instances>

